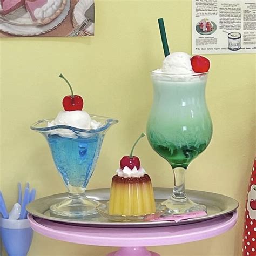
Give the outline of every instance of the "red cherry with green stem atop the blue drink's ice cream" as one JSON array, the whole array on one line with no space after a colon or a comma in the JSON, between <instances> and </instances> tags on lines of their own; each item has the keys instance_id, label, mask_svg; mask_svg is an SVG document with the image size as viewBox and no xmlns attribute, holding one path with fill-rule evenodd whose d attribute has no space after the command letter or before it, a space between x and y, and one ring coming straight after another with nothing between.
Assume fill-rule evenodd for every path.
<instances>
[{"instance_id":1,"label":"red cherry with green stem atop the blue drink's ice cream","mask_svg":"<svg viewBox=\"0 0 256 256\"><path fill-rule=\"evenodd\" d=\"M65 111L75 111L75 110L82 110L84 101L81 96L74 95L73 89L69 83L69 81L62 75L59 75L60 78L64 79L65 82L69 85L71 95L67 95L62 100L62 105Z\"/></svg>"}]
</instances>

